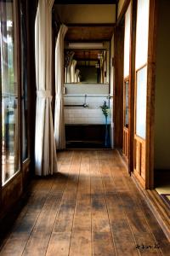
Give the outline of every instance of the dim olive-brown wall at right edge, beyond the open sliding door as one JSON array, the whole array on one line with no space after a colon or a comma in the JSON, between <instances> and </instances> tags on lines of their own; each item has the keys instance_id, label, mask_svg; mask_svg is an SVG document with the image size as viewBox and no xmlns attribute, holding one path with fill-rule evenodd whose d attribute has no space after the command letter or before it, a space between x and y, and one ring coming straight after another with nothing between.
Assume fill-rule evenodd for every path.
<instances>
[{"instance_id":1,"label":"dim olive-brown wall at right edge, beyond the open sliding door","mask_svg":"<svg viewBox=\"0 0 170 256\"><path fill-rule=\"evenodd\" d=\"M155 169L170 170L170 1L159 1L158 9Z\"/></svg>"}]
</instances>

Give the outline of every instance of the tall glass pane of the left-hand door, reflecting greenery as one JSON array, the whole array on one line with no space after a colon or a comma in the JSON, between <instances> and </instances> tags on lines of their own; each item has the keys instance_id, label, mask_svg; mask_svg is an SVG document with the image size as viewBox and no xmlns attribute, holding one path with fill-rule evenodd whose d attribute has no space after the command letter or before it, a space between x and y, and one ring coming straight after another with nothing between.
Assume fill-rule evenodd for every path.
<instances>
[{"instance_id":1,"label":"tall glass pane of the left-hand door, reflecting greenery","mask_svg":"<svg viewBox=\"0 0 170 256\"><path fill-rule=\"evenodd\" d=\"M19 169L18 78L14 1L0 3L3 184Z\"/></svg>"}]
</instances>

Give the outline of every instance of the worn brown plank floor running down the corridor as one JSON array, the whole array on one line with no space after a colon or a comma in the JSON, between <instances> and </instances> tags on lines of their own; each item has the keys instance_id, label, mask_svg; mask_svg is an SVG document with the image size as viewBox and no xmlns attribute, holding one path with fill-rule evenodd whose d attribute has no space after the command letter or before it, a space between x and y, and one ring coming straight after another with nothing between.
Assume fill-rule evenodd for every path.
<instances>
[{"instance_id":1,"label":"worn brown plank floor running down the corridor","mask_svg":"<svg viewBox=\"0 0 170 256\"><path fill-rule=\"evenodd\" d=\"M116 151L70 150L31 184L0 255L170 255L170 244Z\"/></svg>"}]
</instances>

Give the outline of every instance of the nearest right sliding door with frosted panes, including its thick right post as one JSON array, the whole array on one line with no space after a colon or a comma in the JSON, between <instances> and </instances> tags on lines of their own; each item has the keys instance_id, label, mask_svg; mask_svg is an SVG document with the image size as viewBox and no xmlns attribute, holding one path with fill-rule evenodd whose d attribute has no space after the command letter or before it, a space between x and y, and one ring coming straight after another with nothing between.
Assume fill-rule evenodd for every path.
<instances>
[{"instance_id":1,"label":"nearest right sliding door with frosted panes, including its thick right post","mask_svg":"<svg viewBox=\"0 0 170 256\"><path fill-rule=\"evenodd\" d=\"M137 3L133 172L145 189L153 188L156 3Z\"/></svg>"}]
</instances>

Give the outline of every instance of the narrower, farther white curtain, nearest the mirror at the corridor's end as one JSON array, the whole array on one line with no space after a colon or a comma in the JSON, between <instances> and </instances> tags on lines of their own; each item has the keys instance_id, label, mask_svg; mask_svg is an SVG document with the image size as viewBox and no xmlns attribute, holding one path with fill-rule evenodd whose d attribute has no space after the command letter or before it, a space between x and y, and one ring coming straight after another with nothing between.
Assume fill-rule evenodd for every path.
<instances>
[{"instance_id":1,"label":"narrower, farther white curtain, nearest the mirror at the corridor's end","mask_svg":"<svg viewBox=\"0 0 170 256\"><path fill-rule=\"evenodd\" d=\"M61 25L55 45L55 114L54 137L57 149L65 149L65 120L64 120L64 38L67 26Z\"/></svg>"}]
</instances>

